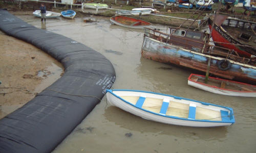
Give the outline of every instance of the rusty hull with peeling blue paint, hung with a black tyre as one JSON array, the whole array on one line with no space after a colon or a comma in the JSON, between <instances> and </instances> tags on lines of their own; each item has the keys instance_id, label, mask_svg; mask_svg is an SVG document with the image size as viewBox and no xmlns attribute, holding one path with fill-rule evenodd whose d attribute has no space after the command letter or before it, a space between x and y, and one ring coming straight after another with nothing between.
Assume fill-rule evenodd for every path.
<instances>
[{"instance_id":1,"label":"rusty hull with peeling blue paint, hung with a black tyre","mask_svg":"<svg viewBox=\"0 0 256 153\"><path fill-rule=\"evenodd\" d=\"M175 64L202 72L207 71L207 63L210 58L209 73L230 80L256 84L255 66L228 60L230 63L229 69L221 70L218 63L225 60L225 58L194 52L146 35L144 35L141 56L161 63Z\"/></svg>"}]
</instances>

